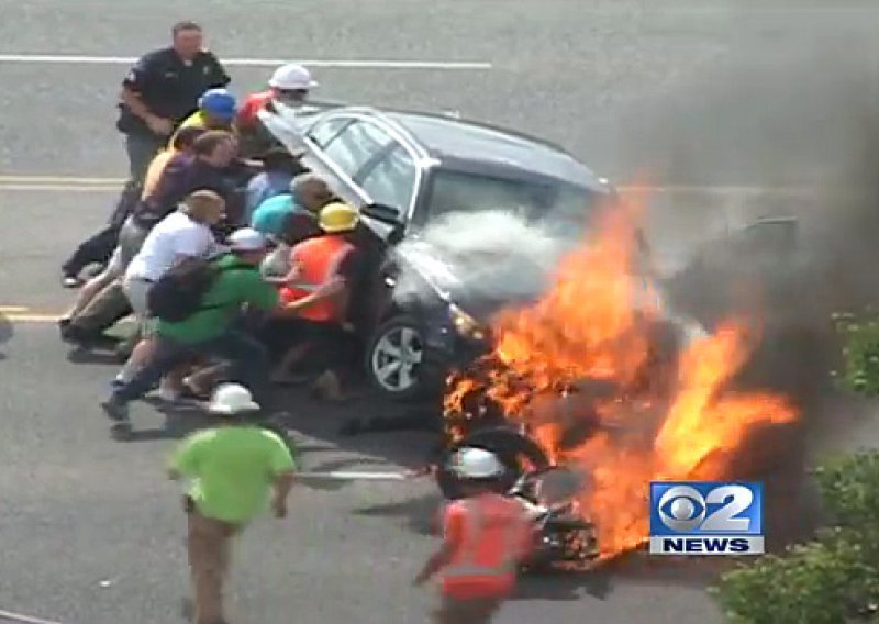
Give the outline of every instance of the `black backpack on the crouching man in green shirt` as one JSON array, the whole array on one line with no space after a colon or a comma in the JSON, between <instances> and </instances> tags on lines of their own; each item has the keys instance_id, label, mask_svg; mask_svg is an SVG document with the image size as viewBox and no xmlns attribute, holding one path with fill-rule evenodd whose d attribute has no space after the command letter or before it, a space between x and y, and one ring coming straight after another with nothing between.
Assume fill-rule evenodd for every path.
<instances>
[{"instance_id":1,"label":"black backpack on the crouching man in green shirt","mask_svg":"<svg viewBox=\"0 0 879 624\"><path fill-rule=\"evenodd\" d=\"M234 265L229 268L252 268ZM169 323L180 323L192 314L221 305L203 305L202 300L223 269L205 258L186 258L168 269L146 296L149 314Z\"/></svg>"}]
</instances>

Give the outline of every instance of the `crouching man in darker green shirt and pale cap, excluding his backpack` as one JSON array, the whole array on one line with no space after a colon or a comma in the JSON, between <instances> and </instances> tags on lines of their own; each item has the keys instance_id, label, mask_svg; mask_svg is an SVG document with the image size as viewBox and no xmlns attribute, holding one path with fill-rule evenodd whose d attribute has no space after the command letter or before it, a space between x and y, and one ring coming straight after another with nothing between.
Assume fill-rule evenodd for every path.
<instances>
[{"instance_id":1,"label":"crouching man in darker green shirt and pale cap, excluding his backpack","mask_svg":"<svg viewBox=\"0 0 879 624\"><path fill-rule=\"evenodd\" d=\"M278 291L259 275L268 241L245 227L229 237L231 252L215 260L218 274L201 298L201 305L183 321L158 320L155 349L149 361L127 383L113 388L101 403L118 436L131 433L129 403L148 392L163 376L197 356L219 356L233 364L233 379L244 383L266 404L269 358L254 337L236 328L242 309L272 311Z\"/></svg>"}]
</instances>

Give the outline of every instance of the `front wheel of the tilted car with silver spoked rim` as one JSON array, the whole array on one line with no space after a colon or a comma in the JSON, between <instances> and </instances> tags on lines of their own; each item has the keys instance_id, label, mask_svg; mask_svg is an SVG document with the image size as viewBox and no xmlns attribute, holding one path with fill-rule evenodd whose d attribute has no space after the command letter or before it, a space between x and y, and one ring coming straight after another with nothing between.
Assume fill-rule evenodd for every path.
<instances>
[{"instance_id":1,"label":"front wheel of the tilted car with silver spoked rim","mask_svg":"<svg viewBox=\"0 0 879 624\"><path fill-rule=\"evenodd\" d=\"M380 370L393 361L388 347L404 350L405 361L398 370L382 376ZM412 363L414 357L418 363ZM369 383L382 395L393 401L412 401L422 398L427 391L424 370L424 337L420 323L412 316L393 316L374 332L366 348L366 375Z\"/></svg>"}]
</instances>

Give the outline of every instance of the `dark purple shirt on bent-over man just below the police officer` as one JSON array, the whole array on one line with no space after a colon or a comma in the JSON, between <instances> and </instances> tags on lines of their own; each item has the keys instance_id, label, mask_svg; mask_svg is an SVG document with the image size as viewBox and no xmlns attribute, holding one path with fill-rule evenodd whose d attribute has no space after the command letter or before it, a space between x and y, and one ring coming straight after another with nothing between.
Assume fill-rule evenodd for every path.
<instances>
[{"instance_id":1,"label":"dark purple shirt on bent-over man just below the police officer","mask_svg":"<svg viewBox=\"0 0 879 624\"><path fill-rule=\"evenodd\" d=\"M178 154L162 171L156 190L134 209L134 221L142 227L153 227L177 210L191 192L211 190L230 201L234 183L227 169L219 169L189 154Z\"/></svg>"}]
</instances>

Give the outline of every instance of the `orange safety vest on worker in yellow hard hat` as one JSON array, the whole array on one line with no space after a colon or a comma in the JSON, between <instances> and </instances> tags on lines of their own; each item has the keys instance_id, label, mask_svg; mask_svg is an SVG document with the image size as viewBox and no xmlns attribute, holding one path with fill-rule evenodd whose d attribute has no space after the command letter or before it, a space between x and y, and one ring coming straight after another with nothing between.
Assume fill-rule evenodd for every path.
<instances>
[{"instance_id":1,"label":"orange safety vest on worker in yellow hard hat","mask_svg":"<svg viewBox=\"0 0 879 624\"><path fill-rule=\"evenodd\" d=\"M290 256L299 266L297 283L281 288L281 299L287 302L299 301L318 290L335 275L340 263L354 246L342 236L325 234L309 238L293 246ZM324 299L303 308L300 317L309 321L338 321L344 311L337 301Z\"/></svg>"}]
</instances>

